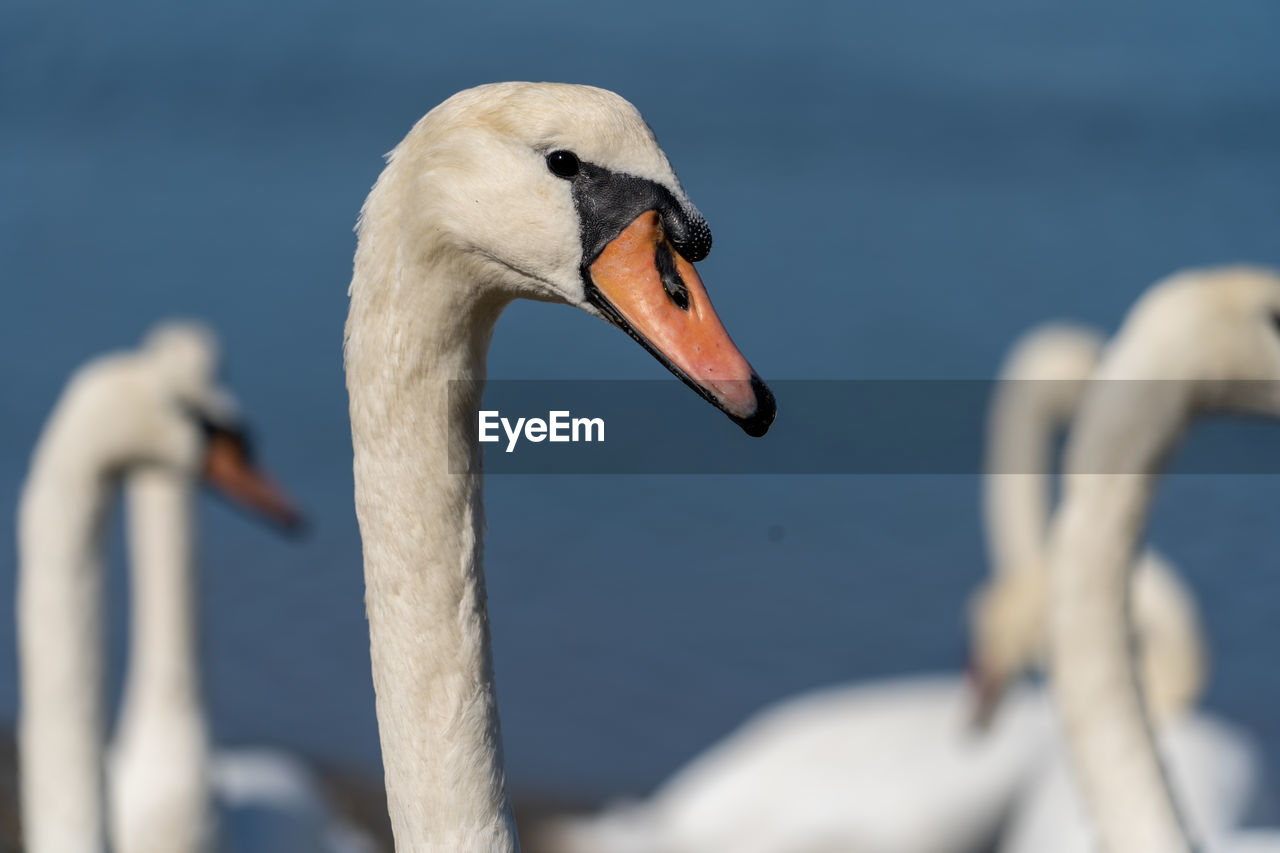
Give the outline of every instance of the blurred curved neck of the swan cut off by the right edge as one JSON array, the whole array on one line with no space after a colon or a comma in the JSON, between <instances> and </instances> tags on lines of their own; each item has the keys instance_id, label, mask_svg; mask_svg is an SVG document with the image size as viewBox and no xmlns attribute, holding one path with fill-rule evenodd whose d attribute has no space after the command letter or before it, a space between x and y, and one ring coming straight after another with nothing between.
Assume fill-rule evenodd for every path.
<instances>
[{"instance_id":1,"label":"blurred curved neck of the swan cut off by the right edge","mask_svg":"<svg viewBox=\"0 0 1280 853\"><path fill-rule=\"evenodd\" d=\"M1076 424L1052 542L1053 689L1085 802L1111 853L1194 849L1138 685L1134 552L1160 465L1187 423L1185 388L1110 382Z\"/></svg>"}]
</instances>

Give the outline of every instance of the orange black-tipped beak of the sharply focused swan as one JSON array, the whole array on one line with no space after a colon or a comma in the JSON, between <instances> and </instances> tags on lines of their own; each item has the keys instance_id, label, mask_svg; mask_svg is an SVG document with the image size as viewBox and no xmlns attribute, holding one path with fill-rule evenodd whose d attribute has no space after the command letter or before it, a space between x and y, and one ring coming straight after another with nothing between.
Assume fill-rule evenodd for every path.
<instances>
[{"instance_id":1,"label":"orange black-tipped beak of the sharply focused swan","mask_svg":"<svg viewBox=\"0 0 1280 853\"><path fill-rule=\"evenodd\" d=\"M586 269L588 298L690 388L763 435L773 394L730 339L694 265L663 233L657 210L636 216Z\"/></svg>"}]
</instances>

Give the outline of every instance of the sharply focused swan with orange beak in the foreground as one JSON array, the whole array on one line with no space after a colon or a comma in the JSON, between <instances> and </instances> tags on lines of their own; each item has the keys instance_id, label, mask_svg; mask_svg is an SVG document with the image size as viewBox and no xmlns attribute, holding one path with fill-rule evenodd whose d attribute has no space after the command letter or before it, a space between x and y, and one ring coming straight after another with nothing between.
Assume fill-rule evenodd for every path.
<instances>
[{"instance_id":1,"label":"sharply focused swan with orange beak in the foreground","mask_svg":"<svg viewBox=\"0 0 1280 853\"><path fill-rule=\"evenodd\" d=\"M705 220L613 92L449 97L390 152L357 231L344 361L397 849L516 850L475 443L498 315L527 297L603 318L750 435L776 406L692 266L710 250Z\"/></svg>"}]
</instances>

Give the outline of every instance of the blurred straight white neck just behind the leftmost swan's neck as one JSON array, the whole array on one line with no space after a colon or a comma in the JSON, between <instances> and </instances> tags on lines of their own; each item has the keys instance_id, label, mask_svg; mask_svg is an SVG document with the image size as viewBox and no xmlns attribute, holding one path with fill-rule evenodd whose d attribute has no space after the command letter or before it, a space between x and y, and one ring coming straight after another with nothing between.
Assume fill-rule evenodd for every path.
<instances>
[{"instance_id":1,"label":"blurred straight white neck just behind the leftmost swan's neck","mask_svg":"<svg viewBox=\"0 0 1280 853\"><path fill-rule=\"evenodd\" d=\"M200 680L195 487L129 474L131 637L110 762L115 853L212 848L209 729Z\"/></svg>"}]
</instances>

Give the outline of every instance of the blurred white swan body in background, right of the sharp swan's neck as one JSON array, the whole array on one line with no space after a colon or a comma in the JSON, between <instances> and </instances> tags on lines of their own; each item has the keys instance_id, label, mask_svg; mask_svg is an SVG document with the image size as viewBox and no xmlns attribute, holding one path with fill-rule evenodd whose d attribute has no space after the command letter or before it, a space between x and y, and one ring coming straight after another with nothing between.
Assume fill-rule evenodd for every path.
<instances>
[{"instance_id":1,"label":"blurred white swan body in background, right of the sharp swan's neck","mask_svg":"<svg viewBox=\"0 0 1280 853\"><path fill-rule=\"evenodd\" d=\"M961 676L831 688L745 722L643 804L548 827L566 853L948 853L995 839L1052 736L1018 689L975 733Z\"/></svg>"}]
</instances>

